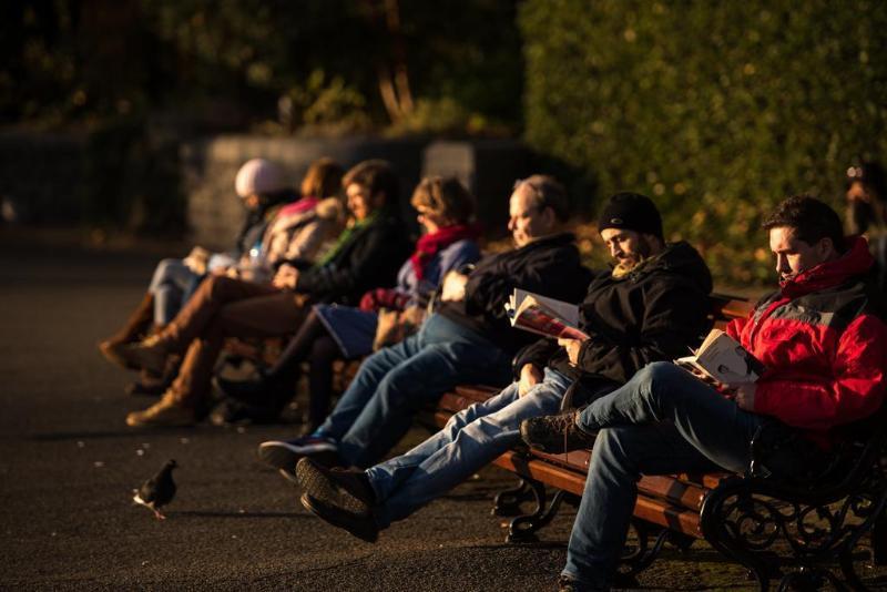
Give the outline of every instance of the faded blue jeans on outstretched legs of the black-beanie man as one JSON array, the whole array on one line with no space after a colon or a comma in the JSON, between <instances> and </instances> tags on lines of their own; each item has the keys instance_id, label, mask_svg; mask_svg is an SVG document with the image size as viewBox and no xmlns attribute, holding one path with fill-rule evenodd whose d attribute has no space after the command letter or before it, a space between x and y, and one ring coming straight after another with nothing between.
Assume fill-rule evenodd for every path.
<instances>
[{"instance_id":1,"label":"faded blue jeans on outstretched legs of the black-beanie man","mask_svg":"<svg viewBox=\"0 0 887 592\"><path fill-rule=\"evenodd\" d=\"M367 469L376 492L376 522L386 528L458 486L520 440L520 422L557 414L570 379L546 368L526 396L512 382L499 395L452 416L436 435L399 457Z\"/></svg>"}]
</instances>

